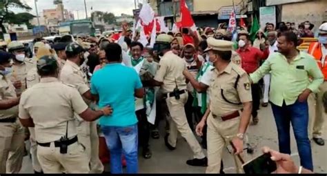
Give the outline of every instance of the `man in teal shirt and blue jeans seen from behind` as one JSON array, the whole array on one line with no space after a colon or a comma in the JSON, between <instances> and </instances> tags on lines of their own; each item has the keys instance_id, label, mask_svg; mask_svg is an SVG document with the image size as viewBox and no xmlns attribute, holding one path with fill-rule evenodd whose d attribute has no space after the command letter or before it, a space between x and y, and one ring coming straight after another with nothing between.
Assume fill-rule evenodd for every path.
<instances>
[{"instance_id":1,"label":"man in teal shirt and blue jeans seen from behind","mask_svg":"<svg viewBox=\"0 0 327 176\"><path fill-rule=\"evenodd\" d=\"M121 155L126 158L127 173L138 172L137 117L135 97L142 98L139 75L134 68L121 64L121 47L110 43L105 48L108 64L95 72L91 79L91 93L99 97L99 107L115 109L110 117L101 117L99 124L110 150L110 172L122 173Z\"/></svg>"}]
</instances>

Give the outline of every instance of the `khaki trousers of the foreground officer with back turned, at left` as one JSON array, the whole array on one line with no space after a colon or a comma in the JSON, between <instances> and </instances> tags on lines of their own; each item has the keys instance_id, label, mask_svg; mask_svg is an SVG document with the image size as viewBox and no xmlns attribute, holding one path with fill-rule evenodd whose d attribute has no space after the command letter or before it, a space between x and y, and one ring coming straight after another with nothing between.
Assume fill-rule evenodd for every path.
<instances>
[{"instance_id":1,"label":"khaki trousers of the foreground officer with back turned, at left","mask_svg":"<svg viewBox=\"0 0 327 176\"><path fill-rule=\"evenodd\" d=\"M89 173L90 167L85 148L75 142L68 146L66 154L60 153L59 147L54 147L51 142L50 147L37 146L37 158L43 169L43 173Z\"/></svg>"}]
</instances>

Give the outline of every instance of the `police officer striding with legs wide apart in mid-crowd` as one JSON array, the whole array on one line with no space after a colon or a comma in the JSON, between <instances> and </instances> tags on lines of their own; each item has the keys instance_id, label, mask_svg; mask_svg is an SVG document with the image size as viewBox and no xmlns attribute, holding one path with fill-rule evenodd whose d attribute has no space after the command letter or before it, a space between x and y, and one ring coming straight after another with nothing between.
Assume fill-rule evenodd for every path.
<instances>
[{"instance_id":1,"label":"police officer striding with legs wide apart in mid-crowd","mask_svg":"<svg viewBox=\"0 0 327 176\"><path fill-rule=\"evenodd\" d=\"M192 133L190 126L188 126L184 111L184 105L188 100L186 79L183 75L186 63L184 59L172 53L170 50L171 41L172 37L170 35L158 35L154 47L161 60L153 83L154 85L161 86L172 119L170 122L170 134L166 135L165 144L170 150L175 150L178 130L194 153L194 159L188 160L186 164L190 166L206 166L207 158L195 135Z\"/></svg>"}]
</instances>

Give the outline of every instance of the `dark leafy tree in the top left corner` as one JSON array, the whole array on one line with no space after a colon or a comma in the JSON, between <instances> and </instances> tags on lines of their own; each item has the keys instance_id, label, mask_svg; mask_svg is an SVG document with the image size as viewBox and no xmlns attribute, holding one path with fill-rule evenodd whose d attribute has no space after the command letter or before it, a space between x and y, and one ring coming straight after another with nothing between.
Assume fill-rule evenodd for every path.
<instances>
[{"instance_id":1,"label":"dark leafy tree in the top left corner","mask_svg":"<svg viewBox=\"0 0 327 176\"><path fill-rule=\"evenodd\" d=\"M4 22L8 22L9 19L15 19L22 16L17 16L13 12L9 11L9 8L20 8L22 10L32 10L30 6L26 3L21 2L20 0L0 0L0 28L3 32L6 32L5 27L3 26ZM29 16L30 17L30 16ZM0 37L2 35L0 34Z\"/></svg>"}]
</instances>

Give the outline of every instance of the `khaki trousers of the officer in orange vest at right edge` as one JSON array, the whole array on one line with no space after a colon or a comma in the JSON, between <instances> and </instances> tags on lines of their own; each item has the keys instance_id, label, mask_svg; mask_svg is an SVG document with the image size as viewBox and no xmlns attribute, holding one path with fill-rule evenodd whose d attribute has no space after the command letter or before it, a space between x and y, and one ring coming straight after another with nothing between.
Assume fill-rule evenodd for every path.
<instances>
[{"instance_id":1,"label":"khaki trousers of the officer in orange vest at right edge","mask_svg":"<svg viewBox=\"0 0 327 176\"><path fill-rule=\"evenodd\" d=\"M321 137L322 126L324 125L324 119L327 118L325 113L324 104L322 98L324 92L327 91L327 81L324 81L323 84L319 87L318 93L312 93L308 97L308 106L309 106L309 137L319 138Z\"/></svg>"}]
</instances>

